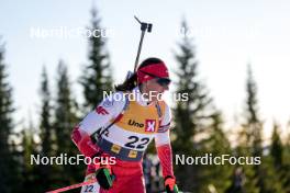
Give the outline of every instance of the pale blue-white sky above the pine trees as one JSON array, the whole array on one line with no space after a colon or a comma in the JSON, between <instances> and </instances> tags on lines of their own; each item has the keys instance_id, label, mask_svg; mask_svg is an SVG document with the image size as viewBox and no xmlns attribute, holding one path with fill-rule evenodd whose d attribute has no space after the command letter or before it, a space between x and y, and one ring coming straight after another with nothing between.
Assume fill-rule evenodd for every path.
<instances>
[{"instance_id":1,"label":"pale blue-white sky above the pine trees","mask_svg":"<svg viewBox=\"0 0 290 193\"><path fill-rule=\"evenodd\" d=\"M287 0L1 1L0 34L5 42L5 63L14 88L16 121L27 118L31 111L37 123L42 67L46 66L54 88L60 58L69 67L75 95L80 99L81 89L76 82L87 63L86 37L36 38L31 31L85 29L93 4L99 10L102 27L111 32L105 39L115 82L122 81L133 68L136 56L140 30L133 15L154 24L153 33L145 36L141 60L160 57L171 73L177 68L172 53L182 37L180 22L186 18L197 48L200 76L224 112L227 125L233 126L234 117L242 113L246 67L250 64L258 84L261 117L267 125L266 138L274 118L286 130L290 120L290 90L287 89L290 1Z\"/></svg>"}]
</instances>

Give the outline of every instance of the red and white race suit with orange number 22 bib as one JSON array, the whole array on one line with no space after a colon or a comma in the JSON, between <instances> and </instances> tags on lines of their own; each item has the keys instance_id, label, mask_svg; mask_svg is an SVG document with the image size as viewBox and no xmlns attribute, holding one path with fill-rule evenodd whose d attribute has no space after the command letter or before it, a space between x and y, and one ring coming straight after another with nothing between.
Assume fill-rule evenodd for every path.
<instances>
[{"instance_id":1,"label":"red and white race suit with orange number 22 bib","mask_svg":"<svg viewBox=\"0 0 290 193\"><path fill-rule=\"evenodd\" d=\"M118 122L105 130L116 117ZM107 157L115 157L114 164L111 164L115 180L109 191L101 190L94 183L82 186L81 193L144 193L142 156L153 138L164 177L174 177L170 120L169 106L164 101L148 104L138 88L127 96L116 92L104 99L74 129L72 140L85 156L103 152ZM97 143L91 140L92 136L96 136ZM89 164L86 180L93 178L94 172L96 164Z\"/></svg>"}]
</instances>

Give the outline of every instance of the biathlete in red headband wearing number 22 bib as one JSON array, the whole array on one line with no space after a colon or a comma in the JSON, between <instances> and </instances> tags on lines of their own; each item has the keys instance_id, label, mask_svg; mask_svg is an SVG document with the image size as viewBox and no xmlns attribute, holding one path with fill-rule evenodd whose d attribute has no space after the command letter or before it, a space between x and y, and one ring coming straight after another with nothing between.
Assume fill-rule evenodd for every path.
<instances>
[{"instance_id":1,"label":"biathlete in red headband wearing number 22 bib","mask_svg":"<svg viewBox=\"0 0 290 193\"><path fill-rule=\"evenodd\" d=\"M166 191L178 192L169 137L171 113L160 99L169 83L165 63L148 58L74 128L71 138L81 154L114 162L88 164L85 180L97 178L98 183L82 186L81 193L145 193L142 158L153 138Z\"/></svg>"}]
</instances>

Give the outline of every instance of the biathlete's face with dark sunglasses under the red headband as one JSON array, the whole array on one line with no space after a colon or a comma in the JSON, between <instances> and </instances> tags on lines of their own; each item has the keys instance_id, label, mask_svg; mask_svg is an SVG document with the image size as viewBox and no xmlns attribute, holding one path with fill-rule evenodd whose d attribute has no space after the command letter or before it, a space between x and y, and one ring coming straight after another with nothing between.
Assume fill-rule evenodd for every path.
<instances>
[{"instance_id":1,"label":"biathlete's face with dark sunglasses under the red headband","mask_svg":"<svg viewBox=\"0 0 290 193\"><path fill-rule=\"evenodd\" d=\"M160 80L158 78L144 82L144 91L149 94L150 101L157 101L161 99L163 93L169 89L170 81Z\"/></svg>"}]
</instances>

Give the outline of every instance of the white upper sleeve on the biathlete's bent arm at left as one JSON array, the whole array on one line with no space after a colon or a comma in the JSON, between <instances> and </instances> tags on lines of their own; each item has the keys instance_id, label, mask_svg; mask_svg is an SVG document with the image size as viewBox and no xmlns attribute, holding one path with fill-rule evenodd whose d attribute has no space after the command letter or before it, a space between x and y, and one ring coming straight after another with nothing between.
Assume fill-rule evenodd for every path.
<instances>
[{"instance_id":1,"label":"white upper sleeve on the biathlete's bent arm at left","mask_svg":"<svg viewBox=\"0 0 290 193\"><path fill-rule=\"evenodd\" d=\"M118 100L116 100L118 99ZM110 120L116 117L125 105L122 92L113 93L105 98L93 111L91 111L80 123L79 128L88 135L107 125Z\"/></svg>"}]
</instances>

